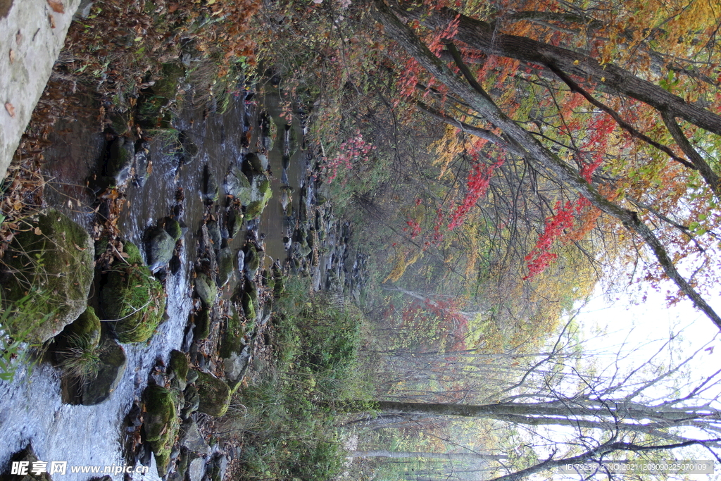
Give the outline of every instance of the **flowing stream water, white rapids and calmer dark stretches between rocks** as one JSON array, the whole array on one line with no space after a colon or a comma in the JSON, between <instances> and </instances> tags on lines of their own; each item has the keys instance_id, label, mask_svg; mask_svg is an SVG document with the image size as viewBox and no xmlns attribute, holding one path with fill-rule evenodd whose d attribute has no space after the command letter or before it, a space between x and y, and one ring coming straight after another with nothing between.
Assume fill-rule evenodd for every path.
<instances>
[{"instance_id":1,"label":"flowing stream water, white rapids and calmer dark stretches between rocks","mask_svg":"<svg viewBox=\"0 0 721 481\"><path fill-rule=\"evenodd\" d=\"M265 104L271 118L280 120L277 91L257 97L262 97L259 102ZM167 148L160 139L151 142L152 173L143 186L128 187L128 205L118 225L123 236L142 249L146 229L171 213L178 187L185 191L185 208L180 221L188 229L183 237L185 248L181 251L180 271L167 275L165 281L168 318L149 343L123 345L128 367L115 392L99 405L63 404L60 371L48 363L40 363L32 371L20 369L12 382L0 381L0 469L6 467L12 454L27 444L32 444L42 461L68 462L66 475L53 475L56 481L84 481L92 477L71 473L70 467L73 466L125 464L122 455L125 416L133 402L141 397L153 366L159 359L166 360L170 350L179 349L185 336L192 307L190 273L195 262L196 234L205 214L199 195L203 169L207 165L218 183L222 183L230 162L247 153L248 149L242 146L242 137L249 129L252 133L250 151L255 151L256 136L252 132L257 130L257 121L252 115L255 108L255 105L248 105L239 97L222 115L211 113L204 118L202 110L184 112L177 121L177 128L186 131L195 141L198 156L180 167L174 156L163 154ZM262 105L257 108L262 108ZM84 182L87 175L97 168L97 159L105 148L104 135L95 133L98 131L96 118L97 112L88 110L87 118L62 123L54 134L53 148L45 154L51 179L46 187L48 206L60 208L88 229L94 216L94 195L84 187ZM293 128L300 133L298 125L293 125ZM273 259L286 256L282 240L285 218L278 202L279 189L284 183L281 180L286 180L287 175L287 182L298 190L306 172L298 149L287 172L281 175L280 135L283 125L278 125L278 132L278 141L268 155L270 169L275 174L273 199L260 222L260 231L267 234L265 252ZM231 244L234 251L242 246L242 237L239 235ZM116 480L122 477L114 475ZM133 477L158 479L154 465L148 474Z\"/></svg>"}]
</instances>

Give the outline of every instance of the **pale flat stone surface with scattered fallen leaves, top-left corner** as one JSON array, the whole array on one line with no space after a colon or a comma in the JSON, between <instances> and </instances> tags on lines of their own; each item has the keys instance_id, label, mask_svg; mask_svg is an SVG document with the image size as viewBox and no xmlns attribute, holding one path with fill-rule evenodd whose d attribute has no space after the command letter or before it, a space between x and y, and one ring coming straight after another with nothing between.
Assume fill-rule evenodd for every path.
<instances>
[{"instance_id":1,"label":"pale flat stone surface with scattered fallen leaves, top-left corner","mask_svg":"<svg viewBox=\"0 0 721 481\"><path fill-rule=\"evenodd\" d=\"M58 59L80 0L64 0L54 12L46 0L0 2L0 176L5 178L20 137L30 121L53 63ZM50 17L54 24L50 24ZM12 61L10 51L12 50ZM5 105L12 105L14 116Z\"/></svg>"}]
</instances>

